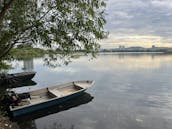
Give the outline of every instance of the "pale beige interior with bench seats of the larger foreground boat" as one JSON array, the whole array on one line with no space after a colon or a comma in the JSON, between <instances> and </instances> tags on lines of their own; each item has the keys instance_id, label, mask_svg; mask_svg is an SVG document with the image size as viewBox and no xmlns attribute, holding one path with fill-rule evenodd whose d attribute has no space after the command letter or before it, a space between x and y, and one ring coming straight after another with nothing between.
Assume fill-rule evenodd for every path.
<instances>
[{"instance_id":1,"label":"pale beige interior with bench seats of the larger foreground boat","mask_svg":"<svg viewBox=\"0 0 172 129\"><path fill-rule=\"evenodd\" d=\"M82 89L83 89L82 87L77 86L74 83L71 83L70 85L66 85L66 86L61 86L61 87L54 86L54 87L32 91L29 92L30 98L22 99L17 106L12 106L12 109L45 102L53 98L65 97L70 94L74 94Z\"/></svg>"}]
</instances>

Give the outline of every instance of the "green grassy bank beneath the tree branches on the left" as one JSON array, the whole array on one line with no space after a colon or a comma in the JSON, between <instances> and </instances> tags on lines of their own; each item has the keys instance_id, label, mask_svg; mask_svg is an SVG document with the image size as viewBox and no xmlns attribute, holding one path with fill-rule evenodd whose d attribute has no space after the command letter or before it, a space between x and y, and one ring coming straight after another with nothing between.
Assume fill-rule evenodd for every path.
<instances>
[{"instance_id":1,"label":"green grassy bank beneath the tree branches on the left","mask_svg":"<svg viewBox=\"0 0 172 129\"><path fill-rule=\"evenodd\" d=\"M46 50L40 48L32 48L32 47L14 48L11 51L12 58L18 60L38 58L44 56L45 54L47 54Z\"/></svg>"}]
</instances>

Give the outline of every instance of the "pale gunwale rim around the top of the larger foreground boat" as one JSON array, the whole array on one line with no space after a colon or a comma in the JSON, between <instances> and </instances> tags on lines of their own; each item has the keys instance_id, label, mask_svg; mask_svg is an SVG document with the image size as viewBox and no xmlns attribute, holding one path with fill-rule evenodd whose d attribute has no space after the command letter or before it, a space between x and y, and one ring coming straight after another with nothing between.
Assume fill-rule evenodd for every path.
<instances>
[{"instance_id":1,"label":"pale gunwale rim around the top of the larger foreground boat","mask_svg":"<svg viewBox=\"0 0 172 129\"><path fill-rule=\"evenodd\" d=\"M65 83L65 84L61 84L61 85L56 85L56 86L51 86L51 87L46 87L46 88L38 89L38 90L35 90L35 91L31 91L31 92L36 92L36 91L45 90L45 89L47 89L47 92L48 92L48 89L51 89L51 88L53 89L53 88L57 87L58 89L60 89L60 88L68 87L68 86L70 86L70 84L75 85L75 82L87 82L87 81L89 81L89 80L85 80L85 81L73 81L73 82L69 82L69 83ZM90 85L93 85L93 83L94 83L94 81L92 81L92 80L89 81L89 82L91 82ZM78 85L76 85L76 86L78 86ZM24 106L20 106L20 107L16 107L16 108L12 108L12 106L9 106L9 108L10 108L10 111L13 112L13 111L21 110L23 108L27 108L27 107L35 106L35 105L38 105L38 104L43 104L43 103L46 103L46 102L49 102L49 101L53 101L53 100L65 98L67 96L70 96L70 95L73 95L73 94L76 94L76 93L85 91L87 89L87 88L84 88L84 87L81 87L81 86L78 86L78 87L80 87L82 89L77 90L77 91L75 91L75 92L73 92L73 93L71 93L69 95L65 95L65 96L61 96L61 97L57 97L56 96L54 98L50 98L50 99L45 100L43 102L33 103L33 104L31 103L29 105L24 105ZM31 93L31 92L27 92L27 93Z\"/></svg>"}]
</instances>

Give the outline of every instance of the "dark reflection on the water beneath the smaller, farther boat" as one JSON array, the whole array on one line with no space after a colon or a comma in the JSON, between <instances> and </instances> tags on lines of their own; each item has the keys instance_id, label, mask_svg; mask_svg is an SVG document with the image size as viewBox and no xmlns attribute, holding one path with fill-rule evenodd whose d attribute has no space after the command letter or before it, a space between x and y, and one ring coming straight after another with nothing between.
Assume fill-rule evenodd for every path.
<instances>
[{"instance_id":1,"label":"dark reflection on the water beneath the smaller, farther boat","mask_svg":"<svg viewBox=\"0 0 172 129\"><path fill-rule=\"evenodd\" d=\"M28 80L28 81L24 81L24 82L17 82L17 83L13 83L13 84L3 85L2 87L17 88L17 87L23 87L23 86L34 86L36 84L37 83L35 81Z\"/></svg>"}]
</instances>

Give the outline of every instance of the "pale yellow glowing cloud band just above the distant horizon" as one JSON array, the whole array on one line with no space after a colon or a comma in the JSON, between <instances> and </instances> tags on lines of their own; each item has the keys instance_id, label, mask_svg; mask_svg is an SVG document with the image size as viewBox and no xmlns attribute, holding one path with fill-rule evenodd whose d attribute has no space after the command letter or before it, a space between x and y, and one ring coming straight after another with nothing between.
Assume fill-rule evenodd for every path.
<instances>
[{"instance_id":1,"label":"pale yellow glowing cloud band just above the distant horizon","mask_svg":"<svg viewBox=\"0 0 172 129\"><path fill-rule=\"evenodd\" d=\"M168 39L164 39L162 36L129 34L124 35L111 33L107 39L104 39L100 42L100 45L102 48L115 48L119 47L119 45L124 45L125 47L152 47L152 45L155 45L157 47L172 47L171 41L171 37L169 37Z\"/></svg>"}]
</instances>

